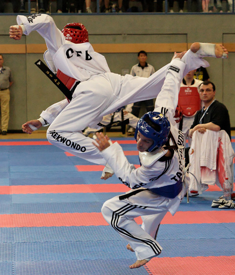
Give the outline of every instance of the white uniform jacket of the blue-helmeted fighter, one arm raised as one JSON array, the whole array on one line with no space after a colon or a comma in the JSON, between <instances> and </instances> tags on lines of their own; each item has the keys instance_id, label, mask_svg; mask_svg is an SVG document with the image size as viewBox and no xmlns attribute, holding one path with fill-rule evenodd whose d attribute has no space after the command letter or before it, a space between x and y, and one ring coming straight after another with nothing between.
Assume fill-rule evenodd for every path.
<instances>
[{"instance_id":1,"label":"white uniform jacket of the blue-helmeted fighter, one arm raised","mask_svg":"<svg viewBox=\"0 0 235 275\"><path fill-rule=\"evenodd\" d=\"M177 145L180 147L178 150L174 150L173 157L168 158L166 161L160 161L159 157L165 155L161 149L153 153L139 153L141 166L135 169L134 165L130 164L124 156L122 148L118 143L114 143L102 151L102 156L107 160L117 177L132 189L143 187L155 192L154 188L168 186L169 189L171 189L172 186L176 186L182 181L185 162L184 140L183 133L175 126L176 123L173 116L177 106L184 65L185 64L179 60L173 60L171 62L162 91L156 98L154 109L156 112L165 114L171 122L171 132ZM178 69L180 70L178 71ZM170 145L173 145L172 140L170 141ZM185 194L185 186L181 189L182 191L180 193L169 199L168 209L173 215Z\"/></svg>"}]
</instances>

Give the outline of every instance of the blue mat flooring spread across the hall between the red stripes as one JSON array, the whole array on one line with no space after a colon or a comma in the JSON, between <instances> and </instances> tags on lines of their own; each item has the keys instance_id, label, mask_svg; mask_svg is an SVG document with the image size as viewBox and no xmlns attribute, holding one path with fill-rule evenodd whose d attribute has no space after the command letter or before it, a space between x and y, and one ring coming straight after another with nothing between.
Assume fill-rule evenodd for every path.
<instances>
[{"instance_id":1,"label":"blue mat flooring spread across the hall between the red stripes","mask_svg":"<svg viewBox=\"0 0 235 275\"><path fill-rule=\"evenodd\" d=\"M115 137L115 140L133 140L133 137ZM125 151L136 150L136 144L121 146ZM101 180L100 171L77 171L74 165L93 164L67 157L54 146L0 146L0 153L0 189L17 185L120 183L116 176L109 181ZM127 159L139 164L138 156ZM100 213L103 202L118 194L3 194L0 215ZM210 205L221 194L221 191L204 192L190 197L190 203L184 198L179 211L220 211ZM158 241L163 246L159 256L162 258L231 256L235 255L235 224L163 224ZM128 265L136 260L135 254L126 249L126 241L111 226L0 228L0 249L1 275L149 274L144 267L129 269Z\"/></svg>"}]
</instances>

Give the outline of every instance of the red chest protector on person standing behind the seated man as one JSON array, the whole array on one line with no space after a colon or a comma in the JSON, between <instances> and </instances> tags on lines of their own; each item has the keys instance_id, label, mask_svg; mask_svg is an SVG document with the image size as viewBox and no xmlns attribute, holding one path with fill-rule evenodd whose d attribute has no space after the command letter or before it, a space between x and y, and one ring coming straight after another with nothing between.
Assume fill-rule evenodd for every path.
<instances>
[{"instance_id":1,"label":"red chest protector on person standing behind the seated man","mask_svg":"<svg viewBox=\"0 0 235 275\"><path fill-rule=\"evenodd\" d=\"M184 116L193 116L201 109L201 99L197 87L180 87L178 104Z\"/></svg>"}]
</instances>

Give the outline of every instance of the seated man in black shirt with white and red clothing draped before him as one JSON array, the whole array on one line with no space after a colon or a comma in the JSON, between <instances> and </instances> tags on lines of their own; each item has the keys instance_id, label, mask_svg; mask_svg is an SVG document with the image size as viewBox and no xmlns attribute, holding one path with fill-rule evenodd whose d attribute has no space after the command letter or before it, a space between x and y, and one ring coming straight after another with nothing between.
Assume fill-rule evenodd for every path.
<instances>
[{"instance_id":1,"label":"seated man in black shirt with white and red clothing draped before him","mask_svg":"<svg viewBox=\"0 0 235 275\"><path fill-rule=\"evenodd\" d=\"M205 191L208 184L214 185L217 182L221 188L225 178L233 183L231 164L234 152L230 143L228 110L215 100L215 86L212 82L203 82L199 86L199 94L204 107L197 112L189 131L189 136L192 137L188 160L191 163L189 171L199 182L198 185L195 178L190 175L189 195L192 196ZM217 173L220 171L217 180L216 171Z\"/></svg>"}]
</instances>

